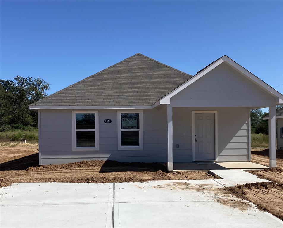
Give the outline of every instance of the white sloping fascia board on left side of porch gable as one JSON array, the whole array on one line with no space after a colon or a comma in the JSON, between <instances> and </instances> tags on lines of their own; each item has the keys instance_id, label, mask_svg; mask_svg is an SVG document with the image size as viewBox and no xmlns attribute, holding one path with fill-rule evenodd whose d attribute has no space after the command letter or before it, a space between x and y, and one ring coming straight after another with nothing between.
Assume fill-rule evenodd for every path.
<instances>
[{"instance_id":1,"label":"white sloping fascia board on left side of porch gable","mask_svg":"<svg viewBox=\"0 0 283 228\"><path fill-rule=\"evenodd\" d=\"M186 81L184 84L180 85L178 88L167 94L165 97L160 99L160 104L170 104L170 98L179 92L181 92L184 88L194 83L196 80L200 79L203 75L214 69L219 64L222 64L224 60L220 58L215 63L211 64L209 67L205 68L203 71L199 72L197 75L193 76L191 79Z\"/></svg>"}]
</instances>

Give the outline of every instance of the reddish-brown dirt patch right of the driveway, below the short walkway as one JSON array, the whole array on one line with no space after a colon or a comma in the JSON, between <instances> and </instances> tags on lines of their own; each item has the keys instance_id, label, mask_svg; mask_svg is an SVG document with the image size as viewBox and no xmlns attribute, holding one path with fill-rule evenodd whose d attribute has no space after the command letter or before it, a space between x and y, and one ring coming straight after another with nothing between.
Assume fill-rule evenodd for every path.
<instances>
[{"instance_id":1,"label":"reddish-brown dirt patch right of the driveway, below the short walkway","mask_svg":"<svg viewBox=\"0 0 283 228\"><path fill-rule=\"evenodd\" d=\"M275 182L260 182L226 187L225 193L249 200L257 205L259 210L268 211L283 220L283 184Z\"/></svg>"}]
</instances>

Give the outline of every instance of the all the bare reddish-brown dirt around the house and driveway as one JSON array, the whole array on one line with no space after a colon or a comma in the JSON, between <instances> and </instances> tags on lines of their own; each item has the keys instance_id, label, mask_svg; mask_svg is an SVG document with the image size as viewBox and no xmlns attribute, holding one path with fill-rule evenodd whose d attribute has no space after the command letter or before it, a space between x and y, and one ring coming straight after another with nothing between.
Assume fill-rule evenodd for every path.
<instances>
[{"instance_id":1,"label":"all the bare reddish-brown dirt around the house and driveway","mask_svg":"<svg viewBox=\"0 0 283 228\"><path fill-rule=\"evenodd\" d=\"M17 182L108 183L214 178L205 172L167 173L166 167L159 163L82 161L39 167L37 149L37 143L0 143L0 187ZM232 194L249 200L260 210L283 219L283 151L277 151L276 158L277 168L249 171L272 182L224 188L223 194ZM251 161L268 165L268 149L253 148ZM238 206L246 208L246 205Z\"/></svg>"}]
</instances>

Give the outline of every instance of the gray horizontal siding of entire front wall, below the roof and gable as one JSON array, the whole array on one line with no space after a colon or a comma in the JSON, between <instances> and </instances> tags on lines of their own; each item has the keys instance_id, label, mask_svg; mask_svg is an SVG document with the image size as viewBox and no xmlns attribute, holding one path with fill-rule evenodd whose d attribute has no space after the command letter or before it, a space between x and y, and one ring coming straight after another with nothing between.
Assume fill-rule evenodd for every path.
<instances>
[{"instance_id":1,"label":"gray horizontal siding of entire front wall, below the roof and gable","mask_svg":"<svg viewBox=\"0 0 283 228\"><path fill-rule=\"evenodd\" d=\"M173 108L174 162L192 162L192 111L218 110L218 161L248 160L248 109ZM143 110L143 150L117 149L117 110L99 110L99 151L72 151L72 111L40 111L41 164L112 159L167 162L166 109ZM105 124L104 119L112 119ZM179 144L179 148L176 145Z\"/></svg>"}]
</instances>

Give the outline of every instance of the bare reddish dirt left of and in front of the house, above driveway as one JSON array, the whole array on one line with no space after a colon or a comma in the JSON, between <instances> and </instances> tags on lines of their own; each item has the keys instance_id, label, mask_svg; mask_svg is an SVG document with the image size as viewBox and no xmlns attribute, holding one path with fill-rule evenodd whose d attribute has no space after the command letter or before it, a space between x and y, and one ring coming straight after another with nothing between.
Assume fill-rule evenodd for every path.
<instances>
[{"instance_id":1,"label":"bare reddish dirt left of and in front of the house, above driveway","mask_svg":"<svg viewBox=\"0 0 283 228\"><path fill-rule=\"evenodd\" d=\"M0 145L0 186L17 182L108 183L213 179L205 172L166 173L159 163L82 161L38 166L36 145Z\"/></svg>"}]
</instances>

